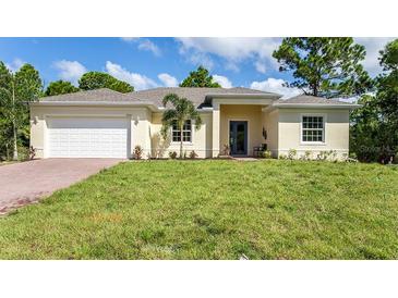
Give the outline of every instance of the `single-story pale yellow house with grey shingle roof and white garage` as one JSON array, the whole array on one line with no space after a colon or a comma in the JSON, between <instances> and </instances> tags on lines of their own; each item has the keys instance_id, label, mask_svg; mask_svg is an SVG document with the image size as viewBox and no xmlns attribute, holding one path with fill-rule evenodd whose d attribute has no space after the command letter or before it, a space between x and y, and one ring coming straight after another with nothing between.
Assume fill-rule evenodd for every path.
<instances>
[{"instance_id":1,"label":"single-story pale yellow house with grey shingle roof and white garage","mask_svg":"<svg viewBox=\"0 0 398 298\"><path fill-rule=\"evenodd\" d=\"M280 95L249 88L155 88L120 94L109 89L41 98L31 104L31 146L38 158L145 158L179 152L178 127L160 135L161 104L168 94L191 100L203 125L183 127L184 151L200 158L253 156L266 147L273 156L349 150L349 112L358 104L312 96ZM228 152L227 152L228 151Z\"/></svg>"}]
</instances>

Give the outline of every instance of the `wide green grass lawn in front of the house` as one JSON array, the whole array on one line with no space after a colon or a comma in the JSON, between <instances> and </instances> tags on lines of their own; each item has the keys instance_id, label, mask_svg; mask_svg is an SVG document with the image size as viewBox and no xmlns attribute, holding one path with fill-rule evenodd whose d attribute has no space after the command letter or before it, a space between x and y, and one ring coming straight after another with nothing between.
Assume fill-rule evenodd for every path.
<instances>
[{"instance_id":1,"label":"wide green grass lawn in front of the house","mask_svg":"<svg viewBox=\"0 0 398 298\"><path fill-rule=\"evenodd\" d=\"M1 259L242 253L397 259L398 169L277 160L125 162L0 219Z\"/></svg>"}]
</instances>

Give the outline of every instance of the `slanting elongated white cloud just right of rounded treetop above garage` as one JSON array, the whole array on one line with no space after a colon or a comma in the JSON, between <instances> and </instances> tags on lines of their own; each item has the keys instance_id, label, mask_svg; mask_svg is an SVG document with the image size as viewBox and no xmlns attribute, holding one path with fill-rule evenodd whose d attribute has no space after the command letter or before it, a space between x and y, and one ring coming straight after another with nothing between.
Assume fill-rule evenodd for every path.
<instances>
[{"instance_id":1,"label":"slanting elongated white cloud just right of rounded treetop above garage","mask_svg":"<svg viewBox=\"0 0 398 298\"><path fill-rule=\"evenodd\" d=\"M148 89L158 86L154 80L146 77L145 75L131 73L119 64L112 63L110 61L107 61L105 67L110 75L131 84L134 86L135 90Z\"/></svg>"}]
</instances>

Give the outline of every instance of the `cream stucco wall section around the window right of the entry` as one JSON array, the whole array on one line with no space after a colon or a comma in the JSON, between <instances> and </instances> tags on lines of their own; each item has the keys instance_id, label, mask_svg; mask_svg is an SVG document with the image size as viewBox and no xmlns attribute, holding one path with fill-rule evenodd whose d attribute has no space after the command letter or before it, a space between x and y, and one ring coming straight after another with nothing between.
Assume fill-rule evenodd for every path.
<instances>
[{"instance_id":1,"label":"cream stucco wall section around the window right of the entry","mask_svg":"<svg viewBox=\"0 0 398 298\"><path fill-rule=\"evenodd\" d=\"M303 114L325 116L324 144L307 145L301 141L301 116ZM349 111L280 109L278 132L279 154L287 154L289 149L296 149L300 157L309 150L316 158L319 151L336 150L338 157L342 158L349 150Z\"/></svg>"}]
</instances>

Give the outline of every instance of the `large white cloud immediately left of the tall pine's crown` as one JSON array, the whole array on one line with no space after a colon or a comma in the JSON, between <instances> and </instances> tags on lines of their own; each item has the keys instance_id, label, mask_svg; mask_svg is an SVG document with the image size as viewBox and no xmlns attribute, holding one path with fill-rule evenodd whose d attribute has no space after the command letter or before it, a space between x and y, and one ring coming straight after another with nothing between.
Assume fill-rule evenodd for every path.
<instances>
[{"instance_id":1,"label":"large white cloud immediately left of the tall pine's crown","mask_svg":"<svg viewBox=\"0 0 398 298\"><path fill-rule=\"evenodd\" d=\"M218 55L227 60L226 67L238 64L246 59L253 60L261 67L261 72L270 69L277 69L277 62L272 57L273 51L278 48L281 42L280 38L252 38L252 37L184 37L177 38L180 42L180 53L190 58L198 54L209 58L209 54ZM266 67L268 66L268 67ZM239 71L239 69L238 69Z\"/></svg>"}]
</instances>

